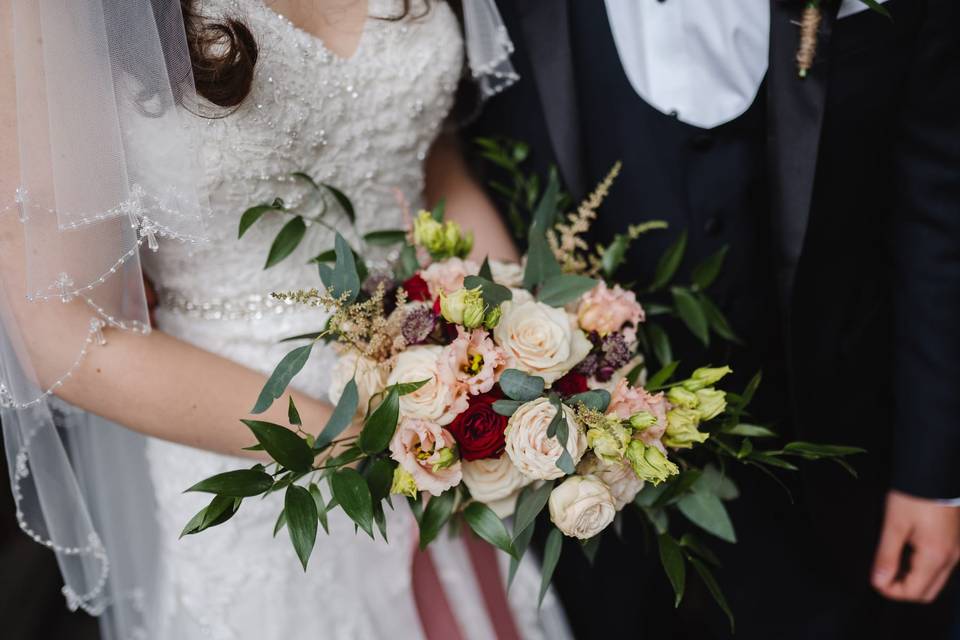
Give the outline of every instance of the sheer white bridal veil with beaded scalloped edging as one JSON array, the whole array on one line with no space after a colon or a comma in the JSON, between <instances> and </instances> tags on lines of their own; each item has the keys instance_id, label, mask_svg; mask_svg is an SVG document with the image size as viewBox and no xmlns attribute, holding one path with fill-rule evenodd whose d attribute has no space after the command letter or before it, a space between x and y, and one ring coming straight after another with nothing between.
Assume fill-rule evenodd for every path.
<instances>
[{"instance_id":1,"label":"sheer white bridal veil with beaded scalloped edging","mask_svg":"<svg viewBox=\"0 0 960 640\"><path fill-rule=\"evenodd\" d=\"M486 98L516 79L512 45L493 0L463 4ZM207 107L179 0L0 0L0 422L12 493L21 528L57 556L68 606L104 616L108 638L148 628L158 567L144 440L56 393L111 332L149 333L140 252L204 242L209 210L184 122Z\"/></svg>"}]
</instances>

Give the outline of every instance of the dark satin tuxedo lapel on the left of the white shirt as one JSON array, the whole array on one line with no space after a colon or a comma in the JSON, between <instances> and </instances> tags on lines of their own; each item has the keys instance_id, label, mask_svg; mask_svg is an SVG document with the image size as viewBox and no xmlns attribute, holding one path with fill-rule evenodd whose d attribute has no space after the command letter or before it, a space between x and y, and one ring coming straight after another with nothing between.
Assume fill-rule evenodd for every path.
<instances>
[{"instance_id":1,"label":"dark satin tuxedo lapel on the left of the white shirt","mask_svg":"<svg viewBox=\"0 0 960 640\"><path fill-rule=\"evenodd\" d=\"M533 80L567 190L584 194L583 157L566 0L516 0Z\"/></svg>"}]
</instances>

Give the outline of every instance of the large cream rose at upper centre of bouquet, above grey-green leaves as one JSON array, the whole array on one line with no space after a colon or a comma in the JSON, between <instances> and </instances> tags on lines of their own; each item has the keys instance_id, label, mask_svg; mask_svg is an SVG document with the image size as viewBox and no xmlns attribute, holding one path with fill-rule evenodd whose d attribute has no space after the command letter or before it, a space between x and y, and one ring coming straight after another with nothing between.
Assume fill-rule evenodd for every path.
<instances>
[{"instance_id":1,"label":"large cream rose at upper centre of bouquet, above grey-green leaves","mask_svg":"<svg viewBox=\"0 0 960 640\"><path fill-rule=\"evenodd\" d=\"M547 385L583 360L593 345L563 309L542 302L507 302L494 338L509 366L540 376Z\"/></svg>"}]
</instances>

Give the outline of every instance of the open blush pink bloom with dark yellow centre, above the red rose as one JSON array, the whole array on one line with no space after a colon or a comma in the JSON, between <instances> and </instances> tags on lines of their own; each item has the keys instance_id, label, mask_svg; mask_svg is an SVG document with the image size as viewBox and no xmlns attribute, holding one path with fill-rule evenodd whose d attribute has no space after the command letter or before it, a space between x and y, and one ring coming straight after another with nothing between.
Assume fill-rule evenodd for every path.
<instances>
[{"instance_id":1,"label":"open blush pink bloom with dark yellow centre, above the red rose","mask_svg":"<svg viewBox=\"0 0 960 640\"><path fill-rule=\"evenodd\" d=\"M448 386L464 386L475 396L493 388L506 364L507 355L490 334L457 326L456 339L440 355L440 377Z\"/></svg>"}]
</instances>

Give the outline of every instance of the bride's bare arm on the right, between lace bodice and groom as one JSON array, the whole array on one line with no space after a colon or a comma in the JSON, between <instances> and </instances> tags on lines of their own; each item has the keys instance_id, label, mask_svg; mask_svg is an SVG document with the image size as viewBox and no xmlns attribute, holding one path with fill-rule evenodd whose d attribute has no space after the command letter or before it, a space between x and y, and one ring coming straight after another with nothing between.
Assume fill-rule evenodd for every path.
<instances>
[{"instance_id":1,"label":"bride's bare arm on the right, between lace bodice and groom","mask_svg":"<svg viewBox=\"0 0 960 640\"><path fill-rule=\"evenodd\" d=\"M440 136L430 150L425 194L430 205L446 198L447 219L473 231L474 258L482 260L489 256L507 262L519 259L500 214L470 175L456 136Z\"/></svg>"}]
</instances>

